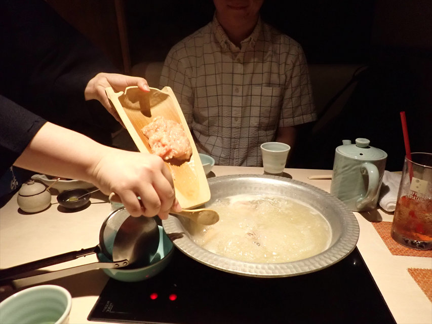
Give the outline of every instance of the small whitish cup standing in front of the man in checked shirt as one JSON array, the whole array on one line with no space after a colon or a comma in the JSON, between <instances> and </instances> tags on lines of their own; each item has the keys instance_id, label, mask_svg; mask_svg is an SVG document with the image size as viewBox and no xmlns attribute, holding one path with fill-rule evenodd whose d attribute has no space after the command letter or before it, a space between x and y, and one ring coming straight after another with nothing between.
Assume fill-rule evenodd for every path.
<instances>
[{"instance_id":1,"label":"small whitish cup standing in front of the man in checked shirt","mask_svg":"<svg viewBox=\"0 0 432 324\"><path fill-rule=\"evenodd\" d=\"M266 142L261 144L262 164L264 172L274 175L284 173L288 153L291 147L280 142Z\"/></svg>"}]
</instances>

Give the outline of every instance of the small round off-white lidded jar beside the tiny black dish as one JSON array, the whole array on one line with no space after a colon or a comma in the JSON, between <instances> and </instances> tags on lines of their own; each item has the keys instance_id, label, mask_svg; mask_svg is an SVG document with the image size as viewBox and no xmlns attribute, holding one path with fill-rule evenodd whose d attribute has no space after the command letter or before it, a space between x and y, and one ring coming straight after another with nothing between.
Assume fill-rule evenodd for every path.
<instances>
[{"instance_id":1,"label":"small round off-white lidded jar beside the tiny black dish","mask_svg":"<svg viewBox=\"0 0 432 324\"><path fill-rule=\"evenodd\" d=\"M19 208L26 213L42 212L51 205L51 193L42 183L29 180L22 184L17 202Z\"/></svg>"}]
</instances>

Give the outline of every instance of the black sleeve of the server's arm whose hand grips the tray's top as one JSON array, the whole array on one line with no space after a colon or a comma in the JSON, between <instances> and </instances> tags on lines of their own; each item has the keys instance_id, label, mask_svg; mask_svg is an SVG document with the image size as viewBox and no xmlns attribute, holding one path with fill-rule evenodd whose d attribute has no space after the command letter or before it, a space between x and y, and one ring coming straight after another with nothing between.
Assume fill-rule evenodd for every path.
<instances>
[{"instance_id":1,"label":"black sleeve of the server's arm whose hand grips the tray's top","mask_svg":"<svg viewBox=\"0 0 432 324\"><path fill-rule=\"evenodd\" d=\"M118 127L99 102L84 98L94 75L119 72L102 52L42 0L0 5L0 93L63 127Z\"/></svg>"}]
</instances>

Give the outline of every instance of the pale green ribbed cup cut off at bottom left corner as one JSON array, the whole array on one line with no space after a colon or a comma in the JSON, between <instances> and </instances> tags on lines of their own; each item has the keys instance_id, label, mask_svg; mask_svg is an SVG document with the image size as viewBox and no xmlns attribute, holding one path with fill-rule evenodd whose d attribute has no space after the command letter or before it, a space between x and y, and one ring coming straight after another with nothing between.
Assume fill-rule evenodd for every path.
<instances>
[{"instance_id":1,"label":"pale green ribbed cup cut off at bottom left corner","mask_svg":"<svg viewBox=\"0 0 432 324\"><path fill-rule=\"evenodd\" d=\"M65 324L72 306L70 293L60 286L41 285L24 289L0 303L0 323Z\"/></svg>"}]
</instances>

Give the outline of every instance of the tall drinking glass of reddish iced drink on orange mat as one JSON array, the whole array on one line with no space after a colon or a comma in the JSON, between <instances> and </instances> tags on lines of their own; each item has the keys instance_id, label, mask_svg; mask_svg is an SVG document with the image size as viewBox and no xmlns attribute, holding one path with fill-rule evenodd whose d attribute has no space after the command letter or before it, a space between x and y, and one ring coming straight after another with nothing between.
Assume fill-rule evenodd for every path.
<instances>
[{"instance_id":1,"label":"tall drinking glass of reddish iced drink on orange mat","mask_svg":"<svg viewBox=\"0 0 432 324\"><path fill-rule=\"evenodd\" d=\"M405 156L391 237L411 249L432 249L431 153Z\"/></svg>"}]
</instances>

